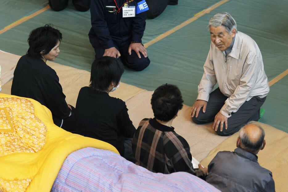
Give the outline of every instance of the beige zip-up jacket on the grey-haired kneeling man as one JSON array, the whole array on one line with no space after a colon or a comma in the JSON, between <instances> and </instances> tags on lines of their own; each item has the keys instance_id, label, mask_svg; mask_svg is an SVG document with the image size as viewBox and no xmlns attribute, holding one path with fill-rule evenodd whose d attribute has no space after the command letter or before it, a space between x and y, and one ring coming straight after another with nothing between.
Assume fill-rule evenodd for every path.
<instances>
[{"instance_id":1,"label":"beige zip-up jacket on the grey-haired kneeling man","mask_svg":"<svg viewBox=\"0 0 288 192\"><path fill-rule=\"evenodd\" d=\"M270 89L260 49L251 37L237 31L231 52L227 57L223 52L211 42L197 100L208 102L209 93L218 82L220 91L229 97L220 113L231 117L245 101L254 96L265 97Z\"/></svg>"}]
</instances>

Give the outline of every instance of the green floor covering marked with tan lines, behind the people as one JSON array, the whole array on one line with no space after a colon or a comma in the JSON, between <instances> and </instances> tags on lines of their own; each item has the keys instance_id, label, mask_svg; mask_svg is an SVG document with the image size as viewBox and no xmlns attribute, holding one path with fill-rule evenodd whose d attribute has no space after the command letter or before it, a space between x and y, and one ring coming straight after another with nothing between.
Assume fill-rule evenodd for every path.
<instances>
[{"instance_id":1,"label":"green floor covering marked with tan lines, behind the people","mask_svg":"<svg viewBox=\"0 0 288 192\"><path fill-rule=\"evenodd\" d=\"M153 40L218 2L220 0L179 0L177 6L167 6L162 15L147 19L143 43ZM47 0L0 0L0 4L2 30L47 6ZM141 72L125 68L121 81L146 90L154 90L164 83L175 84L183 94L184 103L192 106L197 97L197 86L203 75L203 65L210 46L208 21L218 12L229 12L237 22L237 30L257 42L265 72L271 81L288 68L287 7L287 0L227 1L150 45L147 48L150 66ZM48 9L0 34L0 49L24 55L28 49L29 32L50 23L63 34L61 52L55 62L90 71L94 59L94 50L88 40L90 12L76 11L71 1L63 11ZM270 88L262 106L265 114L260 121L288 132L285 123L288 117L288 76Z\"/></svg>"}]
</instances>

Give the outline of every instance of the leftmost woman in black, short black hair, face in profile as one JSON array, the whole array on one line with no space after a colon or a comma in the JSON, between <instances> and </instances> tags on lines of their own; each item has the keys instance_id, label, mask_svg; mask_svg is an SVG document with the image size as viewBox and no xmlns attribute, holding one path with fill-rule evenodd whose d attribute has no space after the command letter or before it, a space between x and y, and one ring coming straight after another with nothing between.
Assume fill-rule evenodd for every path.
<instances>
[{"instance_id":1,"label":"leftmost woman in black, short black hair, face in profile","mask_svg":"<svg viewBox=\"0 0 288 192\"><path fill-rule=\"evenodd\" d=\"M15 68L11 94L35 99L52 113L53 122L67 131L74 131L74 107L65 101L59 77L46 62L59 55L62 34L45 25L31 31L27 54Z\"/></svg>"}]
</instances>

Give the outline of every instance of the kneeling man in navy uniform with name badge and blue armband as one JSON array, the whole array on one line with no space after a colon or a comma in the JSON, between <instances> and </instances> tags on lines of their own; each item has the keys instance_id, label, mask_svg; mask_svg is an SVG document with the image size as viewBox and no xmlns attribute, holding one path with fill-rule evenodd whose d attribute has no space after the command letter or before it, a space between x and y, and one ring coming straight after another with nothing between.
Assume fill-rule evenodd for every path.
<instances>
[{"instance_id":1,"label":"kneeling man in navy uniform with name badge and blue armband","mask_svg":"<svg viewBox=\"0 0 288 192\"><path fill-rule=\"evenodd\" d=\"M150 60L141 39L147 10L145 0L92 0L88 36L96 58L120 58L131 69L145 69Z\"/></svg>"}]
</instances>

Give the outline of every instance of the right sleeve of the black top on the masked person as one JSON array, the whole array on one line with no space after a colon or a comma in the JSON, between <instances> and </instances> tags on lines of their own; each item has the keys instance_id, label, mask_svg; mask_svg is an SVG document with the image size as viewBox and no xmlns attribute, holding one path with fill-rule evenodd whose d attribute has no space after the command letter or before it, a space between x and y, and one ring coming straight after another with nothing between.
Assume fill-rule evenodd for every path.
<instances>
[{"instance_id":1,"label":"right sleeve of the black top on the masked person","mask_svg":"<svg viewBox=\"0 0 288 192\"><path fill-rule=\"evenodd\" d=\"M136 129L129 118L128 109L125 104L123 109L117 115L116 119L119 127L119 133L125 137L133 138Z\"/></svg>"}]
</instances>

